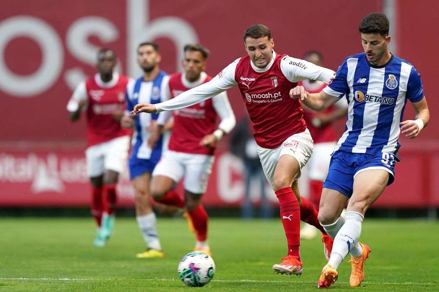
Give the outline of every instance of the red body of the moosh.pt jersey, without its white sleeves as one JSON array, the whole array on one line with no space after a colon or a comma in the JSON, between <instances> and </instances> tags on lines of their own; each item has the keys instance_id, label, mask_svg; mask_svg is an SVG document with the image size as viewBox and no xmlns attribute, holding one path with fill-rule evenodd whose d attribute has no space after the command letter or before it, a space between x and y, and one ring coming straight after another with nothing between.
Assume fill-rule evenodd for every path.
<instances>
[{"instance_id":1,"label":"red body of the moosh.pt jersey, without its white sleeves","mask_svg":"<svg viewBox=\"0 0 439 292\"><path fill-rule=\"evenodd\" d=\"M306 129L300 100L289 97L297 83L290 82L280 70L284 57L277 55L271 68L262 73L253 70L249 56L236 66L235 81L253 122L256 143L264 148L276 148Z\"/></svg>"}]
</instances>

